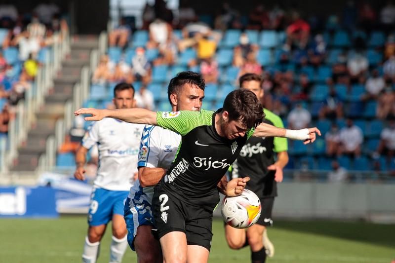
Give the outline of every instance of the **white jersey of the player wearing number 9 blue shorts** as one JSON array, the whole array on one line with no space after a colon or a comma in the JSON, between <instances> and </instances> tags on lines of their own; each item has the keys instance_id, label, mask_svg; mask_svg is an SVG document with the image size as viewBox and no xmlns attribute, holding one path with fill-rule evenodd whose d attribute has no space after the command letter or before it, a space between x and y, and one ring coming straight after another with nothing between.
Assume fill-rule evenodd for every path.
<instances>
[{"instance_id":1,"label":"white jersey of the player wearing number 9 blue shorts","mask_svg":"<svg viewBox=\"0 0 395 263\"><path fill-rule=\"evenodd\" d=\"M89 126L82 146L97 144L99 167L94 186L107 190L127 191L137 172L137 157L144 124L104 118Z\"/></svg>"}]
</instances>

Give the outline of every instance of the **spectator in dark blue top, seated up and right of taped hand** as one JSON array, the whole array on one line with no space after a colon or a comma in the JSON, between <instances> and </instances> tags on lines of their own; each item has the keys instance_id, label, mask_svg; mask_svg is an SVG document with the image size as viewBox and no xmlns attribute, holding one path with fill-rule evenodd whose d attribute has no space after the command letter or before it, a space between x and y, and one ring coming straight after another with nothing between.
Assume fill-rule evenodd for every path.
<instances>
[{"instance_id":1,"label":"spectator in dark blue top, seated up and right of taped hand","mask_svg":"<svg viewBox=\"0 0 395 263\"><path fill-rule=\"evenodd\" d=\"M323 107L319 111L319 118L329 118L329 119L336 119L343 117L343 100L337 94L336 89L333 85L329 88L329 94L323 101Z\"/></svg>"}]
</instances>

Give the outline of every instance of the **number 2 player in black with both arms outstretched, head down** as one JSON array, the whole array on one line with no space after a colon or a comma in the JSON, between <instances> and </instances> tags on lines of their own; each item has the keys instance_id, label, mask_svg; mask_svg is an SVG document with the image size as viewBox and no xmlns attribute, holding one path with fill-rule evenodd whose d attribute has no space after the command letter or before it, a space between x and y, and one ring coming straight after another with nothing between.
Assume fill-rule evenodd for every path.
<instances>
[{"instance_id":1,"label":"number 2 player in black with both arms outstretched, head down","mask_svg":"<svg viewBox=\"0 0 395 263\"><path fill-rule=\"evenodd\" d=\"M253 92L243 89L229 93L224 107L216 112L83 108L75 112L79 114L92 115L85 120L112 117L158 125L182 136L177 156L155 187L152 201L165 262L207 262L218 191L235 195L244 188L223 186L221 179L249 137L287 137L307 144L316 140L316 133L320 135L317 128L285 130L262 123L262 105Z\"/></svg>"}]
</instances>

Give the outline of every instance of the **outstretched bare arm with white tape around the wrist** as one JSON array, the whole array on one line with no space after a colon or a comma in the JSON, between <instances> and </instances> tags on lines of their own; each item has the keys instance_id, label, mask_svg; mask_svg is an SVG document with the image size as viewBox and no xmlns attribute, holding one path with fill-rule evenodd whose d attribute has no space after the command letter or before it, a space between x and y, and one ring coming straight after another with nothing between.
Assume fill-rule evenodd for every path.
<instances>
[{"instance_id":1,"label":"outstretched bare arm with white tape around the wrist","mask_svg":"<svg viewBox=\"0 0 395 263\"><path fill-rule=\"evenodd\" d=\"M301 140L305 144L313 143L316 140L316 133L321 136L321 132L316 128L302 130L287 130L276 126L261 123L256 127L253 136L255 137L285 137L292 140Z\"/></svg>"}]
</instances>

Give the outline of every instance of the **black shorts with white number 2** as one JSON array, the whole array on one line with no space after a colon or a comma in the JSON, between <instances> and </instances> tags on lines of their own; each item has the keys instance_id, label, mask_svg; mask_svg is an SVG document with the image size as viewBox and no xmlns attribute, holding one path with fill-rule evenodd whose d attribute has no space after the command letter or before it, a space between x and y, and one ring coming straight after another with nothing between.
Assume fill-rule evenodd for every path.
<instances>
[{"instance_id":1,"label":"black shorts with white number 2","mask_svg":"<svg viewBox=\"0 0 395 263\"><path fill-rule=\"evenodd\" d=\"M181 231L186 234L188 245L202 246L210 251L212 211L175 198L160 184L155 187L152 208L159 238L169 232Z\"/></svg>"}]
</instances>

